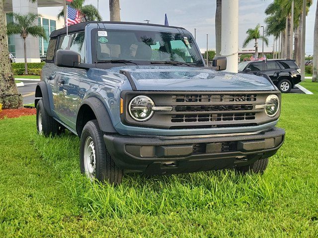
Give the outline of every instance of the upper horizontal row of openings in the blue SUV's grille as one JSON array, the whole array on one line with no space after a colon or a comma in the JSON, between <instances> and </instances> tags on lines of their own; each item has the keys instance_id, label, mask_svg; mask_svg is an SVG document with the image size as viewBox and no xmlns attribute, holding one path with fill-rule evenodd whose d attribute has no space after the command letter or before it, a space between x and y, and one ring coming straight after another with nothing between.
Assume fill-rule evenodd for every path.
<instances>
[{"instance_id":1,"label":"upper horizontal row of openings in the blue SUV's grille","mask_svg":"<svg viewBox=\"0 0 318 238\"><path fill-rule=\"evenodd\" d=\"M195 102L255 102L256 94L232 94L232 95L213 95L213 94L181 94L172 95L172 102L175 103L195 103Z\"/></svg>"}]
</instances>

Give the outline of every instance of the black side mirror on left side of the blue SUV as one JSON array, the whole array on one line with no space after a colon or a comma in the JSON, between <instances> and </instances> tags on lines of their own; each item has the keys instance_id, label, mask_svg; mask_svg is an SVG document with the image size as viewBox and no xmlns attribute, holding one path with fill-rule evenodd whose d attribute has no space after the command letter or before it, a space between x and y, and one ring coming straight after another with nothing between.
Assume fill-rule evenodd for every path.
<instances>
[{"instance_id":1,"label":"black side mirror on left side of the blue SUV","mask_svg":"<svg viewBox=\"0 0 318 238\"><path fill-rule=\"evenodd\" d=\"M80 64L79 53L71 50L58 50L55 55L55 65L59 67L76 67Z\"/></svg>"}]
</instances>

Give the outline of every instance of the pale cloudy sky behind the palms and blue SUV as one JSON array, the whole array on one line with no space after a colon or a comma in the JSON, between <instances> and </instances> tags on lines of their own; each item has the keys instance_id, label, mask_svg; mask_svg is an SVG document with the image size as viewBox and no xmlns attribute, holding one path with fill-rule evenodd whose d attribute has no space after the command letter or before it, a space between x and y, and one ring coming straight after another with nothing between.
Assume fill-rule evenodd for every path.
<instances>
[{"instance_id":1,"label":"pale cloudy sky behind the palms and blue SUV","mask_svg":"<svg viewBox=\"0 0 318 238\"><path fill-rule=\"evenodd\" d=\"M109 20L108 0L86 0L85 4L97 7L103 20ZM258 23L264 24L264 10L272 0L239 0L239 48L246 37L246 30ZM306 55L313 55L314 24L317 0L314 0L307 17ZM194 35L199 48L206 48L206 34L209 34L209 49L215 49L215 10L216 0L120 0L121 20L164 24L167 13L170 26L180 26ZM39 13L57 15L61 7L41 7ZM261 43L260 43L261 44ZM250 43L247 48L253 48ZM269 47L273 47L273 37L269 37Z\"/></svg>"}]
</instances>

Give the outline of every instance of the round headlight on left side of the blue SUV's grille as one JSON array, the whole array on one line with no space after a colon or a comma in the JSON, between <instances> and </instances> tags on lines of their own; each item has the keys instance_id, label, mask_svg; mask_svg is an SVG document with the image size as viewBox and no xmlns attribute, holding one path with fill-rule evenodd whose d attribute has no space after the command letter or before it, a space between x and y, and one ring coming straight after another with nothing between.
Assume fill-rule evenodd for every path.
<instances>
[{"instance_id":1,"label":"round headlight on left side of the blue SUV's grille","mask_svg":"<svg viewBox=\"0 0 318 238\"><path fill-rule=\"evenodd\" d=\"M145 121L153 116L154 111L152 108L154 106L155 103L151 98L147 96L137 96L130 101L128 111L133 119Z\"/></svg>"}]
</instances>

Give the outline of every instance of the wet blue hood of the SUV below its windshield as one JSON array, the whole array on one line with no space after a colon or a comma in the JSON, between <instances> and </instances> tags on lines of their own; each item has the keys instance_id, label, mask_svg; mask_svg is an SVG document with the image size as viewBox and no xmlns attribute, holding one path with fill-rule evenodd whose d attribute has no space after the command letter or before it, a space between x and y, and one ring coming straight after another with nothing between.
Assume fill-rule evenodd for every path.
<instances>
[{"instance_id":1,"label":"wet blue hood of the SUV below its windshield","mask_svg":"<svg viewBox=\"0 0 318 238\"><path fill-rule=\"evenodd\" d=\"M264 77L228 73L199 67L121 66L109 71L128 71L137 90L156 91L266 91L274 90Z\"/></svg>"}]
</instances>

